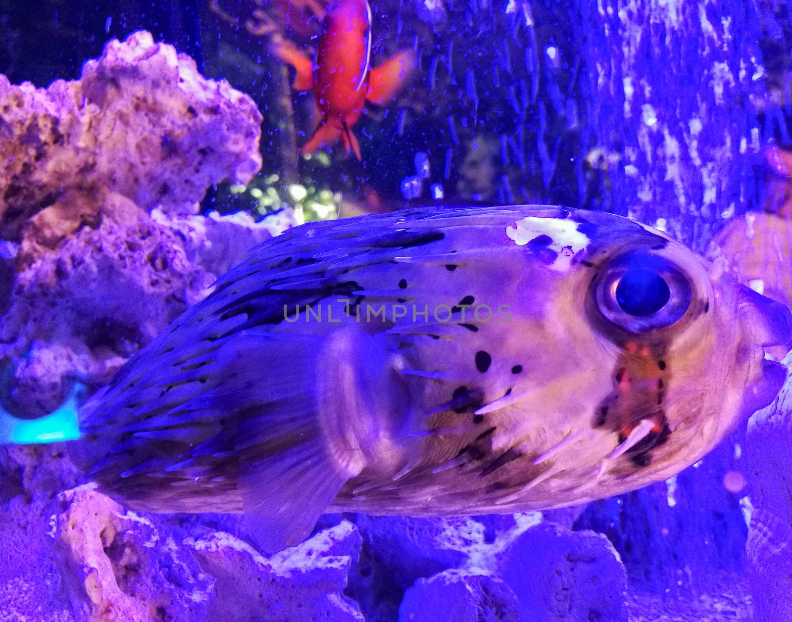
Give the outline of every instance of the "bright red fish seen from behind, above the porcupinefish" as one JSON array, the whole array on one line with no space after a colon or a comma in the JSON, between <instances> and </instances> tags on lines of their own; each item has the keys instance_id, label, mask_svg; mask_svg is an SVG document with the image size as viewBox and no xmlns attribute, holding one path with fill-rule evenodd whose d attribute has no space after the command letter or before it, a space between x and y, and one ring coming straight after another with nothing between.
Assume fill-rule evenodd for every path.
<instances>
[{"instance_id":1,"label":"bright red fish seen from behind, above the porcupinefish","mask_svg":"<svg viewBox=\"0 0 792 622\"><path fill-rule=\"evenodd\" d=\"M394 97L415 64L413 51L403 51L371 67L371 7L367 0L335 0L325 16L314 61L290 44L277 44L275 55L297 70L292 88L314 90L322 123L303 146L312 154L344 141L358 160L360 145L352 126L366 101L383 104Z\"/></svg>"}]
</instances>

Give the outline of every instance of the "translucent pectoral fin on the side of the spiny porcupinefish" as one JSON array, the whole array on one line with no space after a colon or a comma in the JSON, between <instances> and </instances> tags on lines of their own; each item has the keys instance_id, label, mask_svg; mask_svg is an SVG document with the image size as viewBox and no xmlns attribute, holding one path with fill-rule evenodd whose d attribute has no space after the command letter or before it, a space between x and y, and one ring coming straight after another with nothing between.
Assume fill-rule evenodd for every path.
<instances>
[{"instance_id":1,"label":"translucent pectoral fin on the side of the spiny porcupinefish","mask_svg":"<svg viewBox=\"0 0 792 622\"><path fill-rule=\"evenodd\" d=\"M392 386L398 374L382 339L360 328L272 339L262 358L274 348L277 358L307 368L310 380L297 372L288 389L289 367L281 370L284 399L269 391L261 414L238 424L242 509L267 553L309 537L344 484L380 460L405 399L402 388Z\"/></svg>"}]
</instances>

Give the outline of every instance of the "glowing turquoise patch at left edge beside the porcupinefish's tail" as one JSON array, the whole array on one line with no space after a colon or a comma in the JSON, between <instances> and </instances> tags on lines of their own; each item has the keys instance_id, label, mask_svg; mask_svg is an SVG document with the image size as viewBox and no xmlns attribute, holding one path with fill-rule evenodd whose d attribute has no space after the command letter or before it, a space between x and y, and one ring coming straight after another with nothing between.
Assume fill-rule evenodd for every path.
<instances>
[{"instance_id":1,"label":"glowing turquoise patch at left edge beside the porcupinefish's tail","mask_svg":"<svg viewBox=\"0 0 792 622\"><path fill-rule=\"evenodd\" d=\"M75 387L63 406L40 419L17 419L0 409L0 443L31 445L80 438L77 396L81 392L82 387Z\"/></svg>"}]
</instances>

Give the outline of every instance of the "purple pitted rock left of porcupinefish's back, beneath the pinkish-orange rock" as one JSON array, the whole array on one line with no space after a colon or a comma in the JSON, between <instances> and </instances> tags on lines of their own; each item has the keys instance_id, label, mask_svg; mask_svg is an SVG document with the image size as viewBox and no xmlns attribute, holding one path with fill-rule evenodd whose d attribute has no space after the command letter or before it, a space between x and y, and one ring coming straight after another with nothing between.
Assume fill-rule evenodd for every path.
<instances>
[{"instance_id":1,"label":"purple pitted rock left of porcupinefish's back, beneath the pinkish-orange rock","mask_svg":"<svg viewBox=\"0 0 792 622\"><path fill-rule=\"evenodd\" d=\"M214 280L188 260L177 233L129 199L107 195L103 210L95 228L82 227L56 251L31 250L36 258L17 275L0 318L0 357L13 358L4 406L13 414L47 414L75 377L109 381Z\"/></svg>"}]
</instances>

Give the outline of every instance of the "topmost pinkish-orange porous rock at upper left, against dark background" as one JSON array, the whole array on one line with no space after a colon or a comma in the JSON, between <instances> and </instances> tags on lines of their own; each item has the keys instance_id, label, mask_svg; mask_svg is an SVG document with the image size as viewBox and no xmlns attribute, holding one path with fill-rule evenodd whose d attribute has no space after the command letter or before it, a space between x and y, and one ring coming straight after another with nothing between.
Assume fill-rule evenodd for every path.
<instances>
[{"instance_id":1,"label":"topmost pinkish-orange porous rock at upper left, against dark background","mask_svg":"<svg viewBox=\"0 0 792 622\"><path fill-rule=\"evenodd\" d=\"M250 97L148 32L110 41L77 81L36 89L0 75L0 236L19 241L74 188L195 210L211 184L261 167L260 125Z\"/></svg>"}]
</instances>

